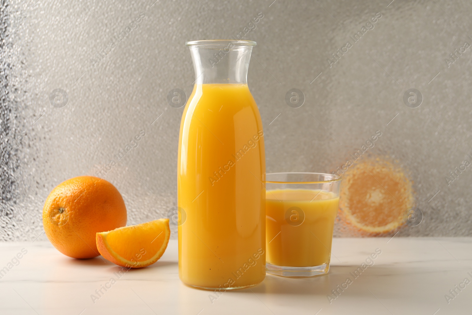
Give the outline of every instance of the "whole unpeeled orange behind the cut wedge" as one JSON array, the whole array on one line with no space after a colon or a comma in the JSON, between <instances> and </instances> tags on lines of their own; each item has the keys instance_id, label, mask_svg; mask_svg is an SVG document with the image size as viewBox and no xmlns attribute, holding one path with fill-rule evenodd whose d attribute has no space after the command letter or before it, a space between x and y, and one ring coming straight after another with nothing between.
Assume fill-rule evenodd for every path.
<instances>
[{"instance_id":1,"label":"whole unpeeled orange behind the cut wedge","mask_svg":"<svg viewBox=\"0 0 472 315\"><path fill-rule=\"evenodd\" d=\"M100 255L95 242L97 232L126 225L126 206L110 182L79 176L51 191L42 210L42 224L59 252L74 258L92 258Z\"/></svg>"}]
</instances>

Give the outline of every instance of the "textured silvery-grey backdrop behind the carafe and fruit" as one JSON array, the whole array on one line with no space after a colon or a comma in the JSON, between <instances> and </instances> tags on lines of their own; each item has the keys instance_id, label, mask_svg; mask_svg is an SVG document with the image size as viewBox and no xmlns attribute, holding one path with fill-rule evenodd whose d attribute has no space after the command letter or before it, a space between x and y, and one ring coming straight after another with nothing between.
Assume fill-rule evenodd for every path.
<instances>
[{"instance_id":1,"label":"textured silvery-grey backdrop behind the carafe and fruit","mask_svg":"<svg viewBox=\"0 0 472 315\"><path fill-rule=\"evenodd\" d=\"M166 97L173 88L189 95L194 82L184 43L232 38L259 12L244 39L257 42L248 82L267 171L334 170L381 130L371 153L411 174L424 213L399 236L470 236L470 167L450 186L445 178L471 160L472 48L449 68L445 59L472 43L471 1L272 1L2 1L0 239L38 238L51 189L94 175L141 130L105 179L122 193L128 224L164 217L177 203L183 111ZM94 67L141 12L138 28ZM374 29L330 68L331 54L377 12ZM63 108L49 102L56 88L69 96ZM291 88L303 91L302 107L285 103ZM420 107L405 106L409 88L421 91Z\"/></svg>"}]
</instances>

